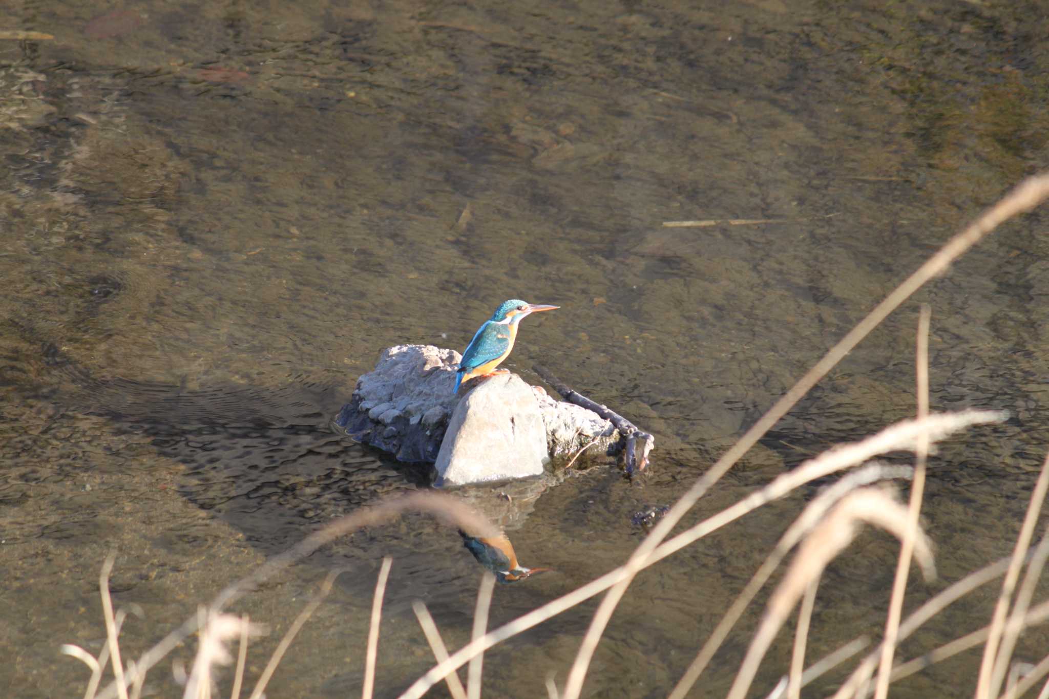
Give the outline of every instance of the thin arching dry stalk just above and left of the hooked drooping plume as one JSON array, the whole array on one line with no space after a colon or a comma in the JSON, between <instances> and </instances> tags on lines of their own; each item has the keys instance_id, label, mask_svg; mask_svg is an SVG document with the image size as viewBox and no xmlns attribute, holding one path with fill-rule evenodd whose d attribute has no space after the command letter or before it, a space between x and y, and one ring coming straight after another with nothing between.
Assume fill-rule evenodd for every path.
<instances>
[{"instance_id":1,"label":"thin arching dry stalk just above and left of the hooked drooping plume","mask_svg":"<svg viewBox=\"0 0 1049 699\"><path fill-rule=\"evenodd\" d=\"M732 606L729 607L725 616L718 622L718 626L710 633L710 637L700 649L695 659L689 664L688 670L682 675L678 684L670 692L669 699L684 699L685 695L699 679L706 669L714 653L721 648L728 637L729 632L735 622L740 620L743 612L750 605L758 590L765 586L769 577L779 566L792 548L801 538L812 530L820 519L827 514L835 503L844 497L850 490L863 485L870 485L879 480L893 478L909 478L913 469L909 466L890 466L880 463L868 464L851 474L842 476L836 483L823 488L802 510L801 515L787 528L780 537L772 552L762 563L762 566L747 583L743 592L738 594Z\"/></svg>"}]
</instances>

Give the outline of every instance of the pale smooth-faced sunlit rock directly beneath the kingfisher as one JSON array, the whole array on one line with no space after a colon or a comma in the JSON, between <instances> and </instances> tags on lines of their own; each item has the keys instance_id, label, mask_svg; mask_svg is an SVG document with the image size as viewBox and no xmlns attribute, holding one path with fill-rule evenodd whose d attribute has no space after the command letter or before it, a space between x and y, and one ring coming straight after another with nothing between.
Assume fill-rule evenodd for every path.
<instances>
[{"instance_id":1,"label":"pale smooth-faced sunlit rock directly beneath the kingfisher","mask_svg":"<svg viewBox=\"0 0 1049 699\"><path fill-rule=\"evenodd\" d=\"M497 374L455 407L434 464L434 484L541 476L549 461L547 428L532 387L516 374Z\"/></svg>"}]
</instances>

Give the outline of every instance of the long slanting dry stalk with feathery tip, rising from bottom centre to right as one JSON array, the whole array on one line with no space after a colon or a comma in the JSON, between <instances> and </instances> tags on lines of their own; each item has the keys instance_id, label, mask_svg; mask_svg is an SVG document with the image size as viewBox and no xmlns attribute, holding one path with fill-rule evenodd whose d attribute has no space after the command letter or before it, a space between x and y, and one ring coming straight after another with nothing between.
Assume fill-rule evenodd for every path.
<instances>
[{"instance_id":1,"label":"long slanting dry stalk with feathery tip, rising from bottom centre to right","mask_svg":"<svg viewBox=\"0 0 1049 699\"><path fill-rule=\"evenodd\" d=\"M625 565L591 581L586 585L557 599L548 602L545 605L517 617L498 629L488 632L483 638L472 641L453 653L447 662L442 662L431 668L401 696L419 699L431 686L444 679L446 674L461 668L470 658L477 655L477 653L484 652L507 638L531 629L537 624L545 621L564 610L571 609L575 605L588 599L595 594L607 590L617 583L633 576L636 574L636 571L633 570L634 565L642 567L654 565L756 507L783 497L798 485L816 478L821 478L840 468L862 463L872 456L882 452L913 450L917 435L922 431L928 432L929 439L936 441L972 424L998 422L1003 419L1005 419L1005 413L996 411L967 410L960 413L930 415L924 420L905 420L894 424L861 442L830 450L817 459L808 461L794 471L778 477L761 492L747 497L735 505L673 537L673 539L665 542L651 551L650 554L642 559L640 563L631 564L627 562ZM657 528L662 524L663 522L660 522Z\"/></svg>"}]
</instances>

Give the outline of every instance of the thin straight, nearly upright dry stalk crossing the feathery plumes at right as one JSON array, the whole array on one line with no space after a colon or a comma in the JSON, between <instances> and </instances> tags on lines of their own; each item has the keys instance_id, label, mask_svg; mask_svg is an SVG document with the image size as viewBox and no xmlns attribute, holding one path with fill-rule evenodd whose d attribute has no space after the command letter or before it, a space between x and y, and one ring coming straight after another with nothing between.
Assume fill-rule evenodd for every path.
<instances>
[{"instance_id":1,"label":"thin straight, nearly upright dry stalk crossing the feathery plumes at right","mask_svg":"<svg viewBox=\"0 0 1049 699\"><path fill-rule=\"evenodd\" d=\"M919 419L928 415L928 325L930 315L932 309L922 304L921 312L918 315L915 372ZM889 616L885 619L885 636L881 643L881 662L878 668L878 683L875 689L876 699L885 699L889 696L889 673L893 670L893 654L896 651L896 637L900 629L900 615L903 612L903 595L907 587L911 555L918 531L918 515L921 511L921 501L925 492L925 461L927 457L928 440L919 437L915 450L915 475L911 482L911 501L907 506L907 527L903 541L900 543L900 558L896 565L896 577L893 581L893 593L889 602Z\"/></svg>"}]
</instances>

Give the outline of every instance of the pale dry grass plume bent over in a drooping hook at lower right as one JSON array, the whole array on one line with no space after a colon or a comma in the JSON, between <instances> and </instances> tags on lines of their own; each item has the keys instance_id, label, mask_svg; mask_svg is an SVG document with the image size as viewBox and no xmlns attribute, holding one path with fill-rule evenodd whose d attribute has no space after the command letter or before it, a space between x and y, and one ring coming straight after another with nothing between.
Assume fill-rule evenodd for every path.
<instances>
[{"instance_id":1,"label":"pale dry grass plume bent over in a drooping hook at lower right","mask_svg":"<svg viewBox=\"0 0 1049 699\"><path fill-rule=\"evenodd\" d=\"M834 506L819 526L801 542L784 580L769 599L765 617L729 690L729 699L743 699L746 696L762 658L794 605L805 589L822 574L827 564L852 543L856 527L861 522L879 526L902 539L906 509L883 488L878 487L853 490ZM935 574L932 546L924 534L916 539L915 554L926 575Z\"/></svg>"}]
</instances>

